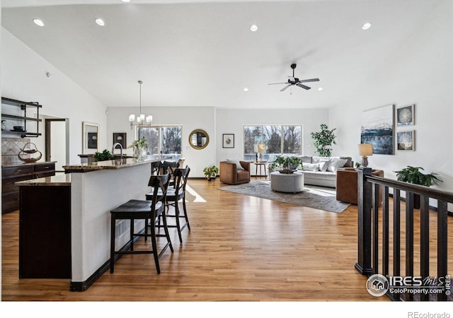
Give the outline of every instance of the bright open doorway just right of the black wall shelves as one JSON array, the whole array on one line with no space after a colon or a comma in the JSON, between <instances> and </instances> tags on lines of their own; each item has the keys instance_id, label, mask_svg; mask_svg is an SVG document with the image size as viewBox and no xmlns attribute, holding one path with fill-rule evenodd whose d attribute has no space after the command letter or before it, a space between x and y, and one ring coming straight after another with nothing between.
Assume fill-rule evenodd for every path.
<instances>
[{"instance_id":1,"label":"bright open doorway just right of the black wall shelves","mask_svg":"<svg viewBox=\"0 0 453 318\"><path fill-rule=\"evenodd\" d=\"M45 160L55 161L55 172L69 162L69 119L45 118Z\"/></svg>"}]
</instances>

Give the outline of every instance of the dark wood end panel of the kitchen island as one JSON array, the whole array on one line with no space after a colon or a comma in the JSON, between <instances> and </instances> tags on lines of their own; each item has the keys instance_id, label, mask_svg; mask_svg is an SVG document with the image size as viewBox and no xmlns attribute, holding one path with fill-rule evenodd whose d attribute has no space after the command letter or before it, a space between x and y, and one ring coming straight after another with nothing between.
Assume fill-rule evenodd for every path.
<instances>
[{"instance_id":1,"label":"dark wood end panel of the kitchen island","mask_svg":"<svg viewBox=\"0 0 453 318\"><path fill-rule=\"evenodd\" d=\"M71 278L71 187L20 187L19 278Z\"/></svg>"}]
</instances>

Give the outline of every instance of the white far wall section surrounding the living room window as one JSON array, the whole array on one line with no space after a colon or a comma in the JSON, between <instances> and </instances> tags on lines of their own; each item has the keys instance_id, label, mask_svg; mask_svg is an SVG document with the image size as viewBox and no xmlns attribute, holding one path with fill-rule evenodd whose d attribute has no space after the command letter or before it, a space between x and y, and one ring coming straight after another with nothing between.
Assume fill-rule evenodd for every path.
<instances>
[{"instance_id":1,"label":"white far wall section surrounding the living room window","mask_svg":"<svg viewBox=\"0 0 453 318\"><path fill-rule=\"evenodd\" d=\"M312 131L319 131L321 124L328 124L327 109L302 110L217 110L217 164L226 159L243 159L243 125L300 125L303 127L302 151L305 155L314 155L311 145ZM222 148L222 135L234 134L234 148ZM338 153L333 147L334 155Z\"/></svg>"}]
</instances>

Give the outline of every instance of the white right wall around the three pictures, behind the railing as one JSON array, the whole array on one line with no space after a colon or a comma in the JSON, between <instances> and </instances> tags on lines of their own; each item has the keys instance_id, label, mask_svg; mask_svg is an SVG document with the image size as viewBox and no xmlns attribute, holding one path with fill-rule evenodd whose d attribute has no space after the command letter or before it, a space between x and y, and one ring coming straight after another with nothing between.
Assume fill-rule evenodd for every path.
<instances>
[{"instance_id":1,"label":"white right wall around the three pictures, behind the railing","mask_svg":"<svg viewBox=\"0 0 453 318\"><path fill-rule=\"evenodd\" d=\"M396 179L394 171L406 165L421 166L425 172L440 173L440 188L453 191L452 21L452 1L443 1L435 11L427 12L411 37L373 61L375 72L368 74L356 95L331 108L329 124L338 127L340 153L360 160L357 144L362 111L389 104L415 104L415 126L407 127L415 129L415 151L372 155L369 166L384 170L385 177L392 179Z\"/></svg>"}]
</instances>

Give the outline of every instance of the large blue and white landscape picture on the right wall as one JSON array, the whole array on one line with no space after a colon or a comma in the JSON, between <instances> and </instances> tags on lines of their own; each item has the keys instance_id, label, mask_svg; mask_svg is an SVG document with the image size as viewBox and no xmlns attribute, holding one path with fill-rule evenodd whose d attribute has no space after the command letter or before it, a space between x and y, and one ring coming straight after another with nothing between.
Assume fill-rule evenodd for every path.
<instances>
[{"instance_id":1,"label":"large blue and white landscape picture on the right wall","mask_svg":"<svg viewBox=\"0 0 453 318\"><path fill-rule=\"evenodd\" d=\"M362 113L360 143L371 143L373 154L394 155L395 105L365 110Z\"/></svg>"}]
</instances>

